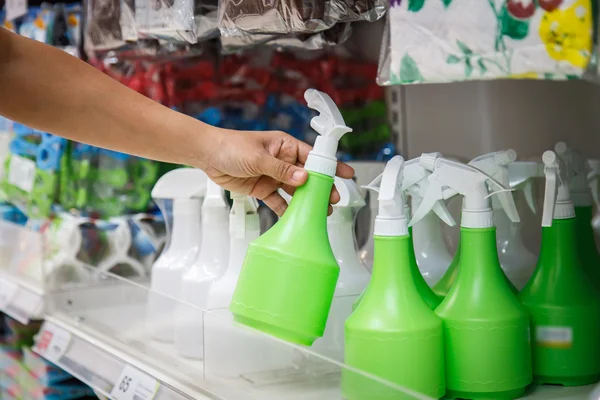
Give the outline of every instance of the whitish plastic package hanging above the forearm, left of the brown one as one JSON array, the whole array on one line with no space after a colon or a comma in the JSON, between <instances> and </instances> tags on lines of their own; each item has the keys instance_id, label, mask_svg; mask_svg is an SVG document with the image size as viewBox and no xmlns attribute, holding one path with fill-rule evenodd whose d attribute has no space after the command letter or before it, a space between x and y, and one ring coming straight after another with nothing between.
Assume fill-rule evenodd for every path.
<instances>
[{"instance_id":1,"label":"whitish plastic package hanging above the forearm, left of the brown one","mask_svg":"<svg viewBox=\"0 0 600 400\"><path fill-rule=\"evenodd\" d=\"M140 38L196 43L193 0L136 0Z\"/></svg>"}]
</instances>

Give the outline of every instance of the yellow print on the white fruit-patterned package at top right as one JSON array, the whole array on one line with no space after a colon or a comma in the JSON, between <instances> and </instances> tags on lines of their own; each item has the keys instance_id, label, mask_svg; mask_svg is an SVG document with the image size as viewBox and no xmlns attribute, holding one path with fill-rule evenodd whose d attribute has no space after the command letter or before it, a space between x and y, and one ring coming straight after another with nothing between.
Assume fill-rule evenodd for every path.
<instances>
[{"instance_id":1,"label":"yellow print on the white fruit-patterned package at top right","mask_svg":"<svg viewBox=\"0 0 600 400\"><path fill-rule=\"evenodd\" d=\"M585 68L590 60L592 48L590 0L577 0L566 9L546 11L540 23L539 33L550 57Z\"/></svg>"}]
</instances>

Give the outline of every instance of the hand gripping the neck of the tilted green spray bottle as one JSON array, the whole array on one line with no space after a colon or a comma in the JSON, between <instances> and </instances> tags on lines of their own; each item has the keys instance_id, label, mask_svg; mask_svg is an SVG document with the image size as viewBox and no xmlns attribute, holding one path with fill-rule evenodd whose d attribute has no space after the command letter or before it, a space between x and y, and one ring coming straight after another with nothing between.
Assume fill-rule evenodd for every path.
<instances>
[{"instance_id":1,"label":"hand gripping the neck of the tilted green spray bottle","mask_svg":"<svg viewBox=\"0 0 600 400\"><path fill-rule=\"evenodd\" d=\"M203 169L218 185L236 193L263 200L277 215L287 208L277 193L283 188L290 195L308 178L304 167L311 147L284 132L219 130L214 150L203 160ZM354 170L339 163L337 175L352 178ZM336 190L331 203L339 201Z\"/></svg>"}]
</instances>

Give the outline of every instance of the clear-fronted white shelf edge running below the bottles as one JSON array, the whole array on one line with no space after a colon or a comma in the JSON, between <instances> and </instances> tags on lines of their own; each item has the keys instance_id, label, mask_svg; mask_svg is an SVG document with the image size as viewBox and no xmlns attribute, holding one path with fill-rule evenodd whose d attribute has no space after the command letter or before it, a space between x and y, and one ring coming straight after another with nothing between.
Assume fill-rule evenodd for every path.
<instances>
[{"instance_id":1,"label":"clear-fronted white shelf edge running below the bottles","mask_svg":"<svg viewBox=\"0 0 600 400\"><path fill-rule=\"evenodd\" d=\"M149 312L149 304L164 313ZM342 399L341 373L350 370L310 349L240 327L227 310L205 312L161 296L145 282L110 274L94 283L55 288L47 295L46 313L38 352L106 396L119 386L122 371L132 367L160 385L156 398L161 399ZM200 359L184 358L173 343L153 339L173 326L174 314L189 321L186 331L203 346ZM58 347L49 343L54 333L45 333L56 329L62 332L58 337L67 337ZM386 390L409 393L406 398L429 399L352 373Z\"/></svg>"}]
</instances>

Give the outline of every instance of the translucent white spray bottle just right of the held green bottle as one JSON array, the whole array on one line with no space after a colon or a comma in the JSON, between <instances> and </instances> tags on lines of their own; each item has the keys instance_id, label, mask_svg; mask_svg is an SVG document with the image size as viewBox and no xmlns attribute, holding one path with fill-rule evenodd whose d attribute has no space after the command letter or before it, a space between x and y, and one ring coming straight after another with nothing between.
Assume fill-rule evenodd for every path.
<instances>
[{"instance_id":1,"label":"translucent white spray bottle just right of the held green bottle","mask_svg":"<svg viewBox=\"0 0 600 400\"><path fill-rule=\"evenodd\" d=\"M357 210L365 200L352 179L335 177L340 201L333 205L327 218L327 233L331 249L340 267L327 327L323 338L314 344L315 351L338 361L344 358L344 323L350 316L353 303L367 287L371 274L356 251L354 221Z\"/></svg>"}]
</instances>

